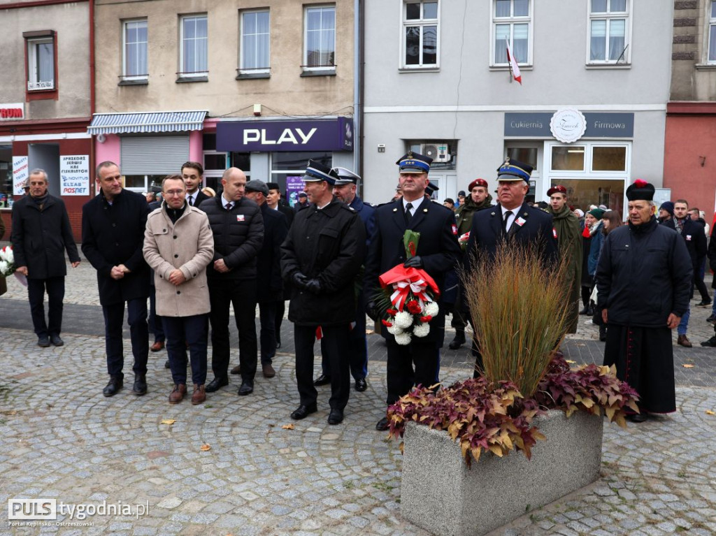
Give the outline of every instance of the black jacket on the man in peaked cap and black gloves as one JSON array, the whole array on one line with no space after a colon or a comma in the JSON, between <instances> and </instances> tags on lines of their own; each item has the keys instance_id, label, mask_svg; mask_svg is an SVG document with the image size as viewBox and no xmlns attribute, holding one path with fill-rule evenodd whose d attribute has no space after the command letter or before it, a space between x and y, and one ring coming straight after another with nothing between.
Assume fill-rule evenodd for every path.
<instances>
[{"instance_id":1,"label":"black jacket on the man in peaked cap and black gloves","mask_svg":"<svg viewBox=\"0 0 716 536\"><path fill-rule=\"evenodd\" d=\"M321 210L316 205L296 213L281 245L281 274L317 278L321 292L299 288L291 292L289 320L299 326L332 326L355 320L354 281L365 255L365 226L358 213L333 198Z\"/></svg>"}]
</instances>

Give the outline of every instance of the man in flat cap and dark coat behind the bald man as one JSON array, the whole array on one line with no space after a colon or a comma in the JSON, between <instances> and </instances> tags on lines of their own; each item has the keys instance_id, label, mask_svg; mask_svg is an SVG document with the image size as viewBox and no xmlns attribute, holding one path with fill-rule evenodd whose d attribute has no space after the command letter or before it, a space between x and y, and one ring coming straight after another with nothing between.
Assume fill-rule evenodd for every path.
<instances>
[{"instance_id":1,"label":"man in flat cap and dark coat behind the bald man","mask_svg":"<svg viewBox=\"0 0 716 536\"><path fill-rule=\"evenodd\" d=\"M266 378L276 376L272 359L276 355L276 306L284 303L284 284L281 279L281 244L286 240L289 224L286 216L266 205L269 188L261 180L246 182L246 198L261 209L263 217L263 244L258 251L256 263L256 288L258 292L258 316L261 321L261 371ZM238 370L236 370L238 369ZM241 374L241 366L231 370Z\"/></svg>"}]
</instances>

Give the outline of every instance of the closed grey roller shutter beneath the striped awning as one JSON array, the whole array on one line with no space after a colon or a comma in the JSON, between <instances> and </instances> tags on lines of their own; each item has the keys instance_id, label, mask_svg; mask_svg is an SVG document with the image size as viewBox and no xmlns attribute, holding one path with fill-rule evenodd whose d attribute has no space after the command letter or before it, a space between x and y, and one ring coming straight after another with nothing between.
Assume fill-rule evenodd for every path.
<instances>
[{"instance_id":1,"label":"closed grey roller shutter beneath the striped awning","mask_svg":"<svg viewBox=\"0 0 716 536\"><path fill-rule=\"evenodd\" d=\"M122 175L178 173L189 160L189 136L122 136Z\"/></svg>"}]
</instances>

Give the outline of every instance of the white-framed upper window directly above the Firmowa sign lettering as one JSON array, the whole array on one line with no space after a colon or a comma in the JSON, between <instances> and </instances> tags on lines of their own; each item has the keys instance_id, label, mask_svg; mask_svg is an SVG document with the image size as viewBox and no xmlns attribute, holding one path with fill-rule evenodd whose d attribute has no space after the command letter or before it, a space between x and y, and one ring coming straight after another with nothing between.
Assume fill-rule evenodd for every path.
<instances>
[{"instance_id":1,"label":"white-framed upper window directly above the Firmowa sign lettering","mask_svg":"<svg viewBox=\"0 0 716 536\"><path fill-rule=\"evenodd\" d=\"M589 63L629 63L631 0L589 0Z\"/></svg>"}]
</instances>

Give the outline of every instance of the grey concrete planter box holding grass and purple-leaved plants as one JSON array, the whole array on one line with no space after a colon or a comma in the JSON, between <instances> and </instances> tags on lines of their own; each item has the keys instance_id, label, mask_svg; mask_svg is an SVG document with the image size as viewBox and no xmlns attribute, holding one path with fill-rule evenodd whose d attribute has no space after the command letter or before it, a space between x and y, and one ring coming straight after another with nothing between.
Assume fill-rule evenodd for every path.
<instances>
[{"instance_id":1,"label":"grey concrete planter box holding grass and purple-leaved plants","mask_svg":"<svg viewBox=\"0 0 716 536\"><path fill-rule=\"evenodd\" d=\"M437 536L479 536L599 478L602 417L549 411L532 459L511 452L480 456L468 469L447 432L407 424L400 510Z\"/></svg>"}]
</instances>

